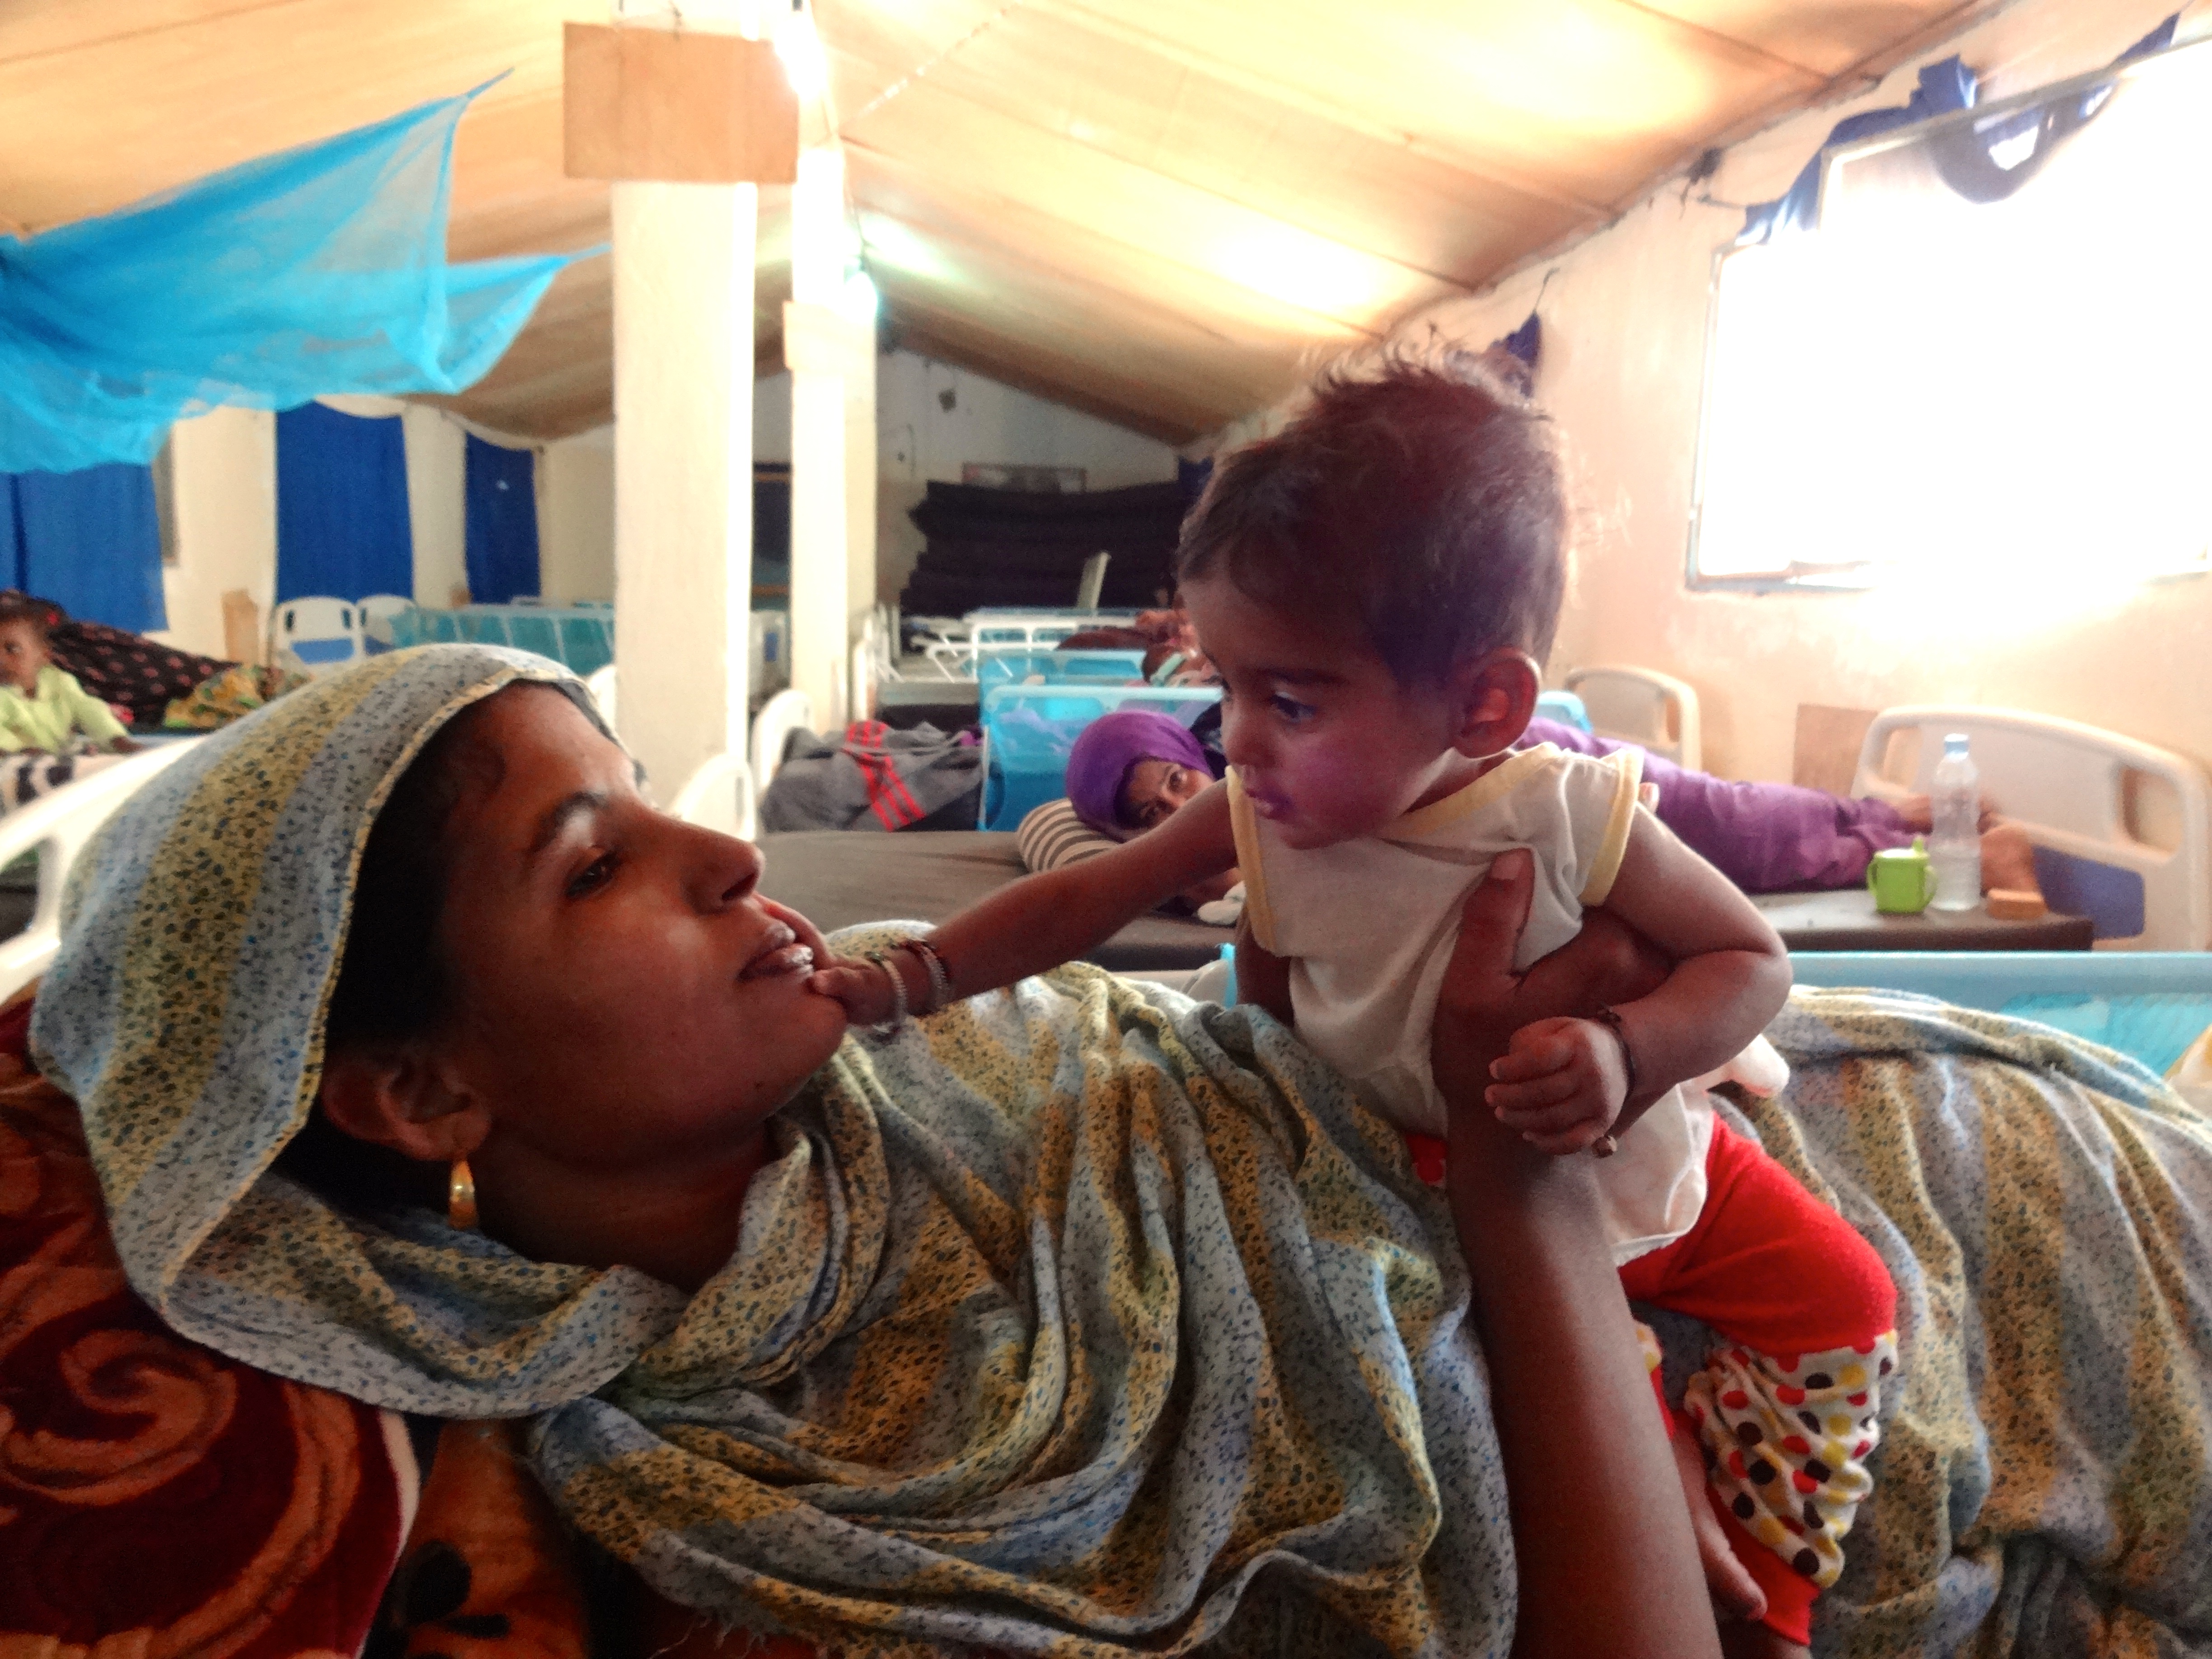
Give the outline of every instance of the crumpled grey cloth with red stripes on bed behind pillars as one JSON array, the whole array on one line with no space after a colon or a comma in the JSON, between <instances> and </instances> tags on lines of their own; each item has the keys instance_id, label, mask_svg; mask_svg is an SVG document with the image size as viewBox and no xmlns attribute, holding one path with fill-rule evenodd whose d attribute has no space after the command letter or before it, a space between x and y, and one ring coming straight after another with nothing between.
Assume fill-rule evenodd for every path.
<instances>
[{"instance_id":1,"label":"crumpled grey cloth with red stripes on bed behind pillars","mask_svg":"<svg viewBox=\"0 0 2212 1659\"><path fill-rule=\"evenodd\" d=\"M792 732L761 794L761 830L907 830L980 787L982 750L936 726Z\"/></svg>"}]
</instances>

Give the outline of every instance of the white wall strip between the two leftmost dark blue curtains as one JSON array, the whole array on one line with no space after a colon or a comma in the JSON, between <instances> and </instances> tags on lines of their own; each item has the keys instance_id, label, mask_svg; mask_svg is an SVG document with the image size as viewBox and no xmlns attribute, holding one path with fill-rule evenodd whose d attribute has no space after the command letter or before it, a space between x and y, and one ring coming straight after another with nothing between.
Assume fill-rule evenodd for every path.
<instances>
[{"instance_id":1,"label":"white wall strip between the two leftmost dark blue curtains","mask_svg":"<svg viewBox=\"0 0 2212 1659\"><path fill-rule=\"evenodd\" d=\"M268 626L276 595L276 416L215 409L170 431L177 562L161 566L168 628L179 650L228 657L223 593L246 588Z\"/></svg>"}]
</instances>

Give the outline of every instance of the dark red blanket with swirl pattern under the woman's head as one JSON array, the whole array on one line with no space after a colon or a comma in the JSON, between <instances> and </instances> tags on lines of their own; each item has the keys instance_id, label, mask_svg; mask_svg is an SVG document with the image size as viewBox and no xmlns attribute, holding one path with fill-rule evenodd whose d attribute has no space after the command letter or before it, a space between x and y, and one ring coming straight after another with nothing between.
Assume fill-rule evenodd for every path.
<instances>
[{"instance_id":1,"label":"dark red blanket with swirl pattern under the woman's head","mask_svg":"<svg viewBox=\"0 0 2212 1659\"><path fill-rule=\"evenodd\" d=\"M131 1294L29 1015L0 1011L0 1659L356 1652L411 1506L398 1420Z\"/></svg>"}]
</instances>

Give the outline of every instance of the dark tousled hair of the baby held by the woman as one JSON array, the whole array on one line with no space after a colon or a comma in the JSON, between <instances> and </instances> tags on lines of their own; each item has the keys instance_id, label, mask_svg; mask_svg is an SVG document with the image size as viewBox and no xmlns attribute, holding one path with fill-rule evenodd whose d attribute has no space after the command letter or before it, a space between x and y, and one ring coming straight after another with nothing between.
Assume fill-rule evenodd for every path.
<instances>
[{"instance_id":1,"label":"dark tousled hair of the baby held by the woman","mask_svg":"<svg viewBox=\"0 0 2212 1659\"><path fill-rule=\"evenodd\" d=\"M1473 352L1329 369L1274 438L1214 467L1179 582L1225 575L1305 617L1356 615L1400 684L1500 646L1551 655L1566 480L1551 418Z\"/></svg>"}]
</instances>

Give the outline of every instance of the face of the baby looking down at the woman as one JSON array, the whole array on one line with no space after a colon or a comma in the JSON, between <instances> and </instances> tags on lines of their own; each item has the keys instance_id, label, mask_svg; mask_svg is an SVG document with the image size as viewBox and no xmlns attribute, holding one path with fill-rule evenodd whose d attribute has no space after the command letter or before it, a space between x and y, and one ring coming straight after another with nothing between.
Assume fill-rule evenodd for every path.
<instances>
[{"instance_id":1,"label":"face of the baby looking down at the woman","mask_svg":"<svg viewBox=\"0 0 2212 1659\"><path fill-rule=\"evenodd\" d=\"M1285 845L1371 836L1464 768L1451 699L1400 686L1356 622L1316 626L1228 577L1186 582L1183 597L1221 672L1230 765Z\"/></svg>"}]
</instances>

